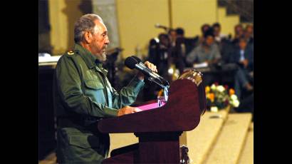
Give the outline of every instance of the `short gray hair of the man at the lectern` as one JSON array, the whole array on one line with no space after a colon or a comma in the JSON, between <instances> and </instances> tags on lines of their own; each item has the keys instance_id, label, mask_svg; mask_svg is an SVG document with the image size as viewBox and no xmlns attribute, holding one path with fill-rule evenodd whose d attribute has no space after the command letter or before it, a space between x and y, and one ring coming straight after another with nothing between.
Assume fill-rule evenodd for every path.
<instances>
[{"instance_id":1,"label":"short gray hair of the man at the lectern","mask_svg":"<svg viewBox=\"0 0 292 164\"><path fill-rule=\"evenodd\" d=\"M94 23L95 20L103 22L103 19L101 19L100 16L96 14L85 14L81 16L80 19L78 19L75 22L75 25L74 25L75 43L80 43L80 41L83 40L83 35L85 31L90 31L91 33L94 32L93 29L95 26L95 23Z\"/></svg>"}]
</instances>

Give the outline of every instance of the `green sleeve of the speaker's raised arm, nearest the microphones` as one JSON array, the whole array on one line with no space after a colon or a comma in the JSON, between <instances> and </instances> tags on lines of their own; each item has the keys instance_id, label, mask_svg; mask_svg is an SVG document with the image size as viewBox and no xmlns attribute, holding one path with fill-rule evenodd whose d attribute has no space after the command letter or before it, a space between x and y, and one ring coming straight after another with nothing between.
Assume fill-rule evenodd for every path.
<instances>
[{"instance_id":1,"label":"green sleeve of the speaker's raised arm, nearest the microphones","mask_svg":"<svg viewBox=\"0 0 292 164\"><path fill-rule=\"evenodd\" d=\"M124 106L130 106L134 103L144 84L145 82L141 81L136 76L127 86L120 90L120 93L114 90L113 108L122 108Z\"/></svg>"}]
</instances>

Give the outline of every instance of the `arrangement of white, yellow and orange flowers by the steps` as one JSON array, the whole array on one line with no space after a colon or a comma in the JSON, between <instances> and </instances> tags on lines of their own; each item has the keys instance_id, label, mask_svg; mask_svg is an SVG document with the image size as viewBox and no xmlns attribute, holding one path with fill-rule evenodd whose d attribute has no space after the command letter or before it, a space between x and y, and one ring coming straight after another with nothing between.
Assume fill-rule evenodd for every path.
<instances>
[{"instance_id":1,"label":"arrangement of white, yellow and orange flowers by the steps","mask_svg":"<svg viewBox=\"0 0 292 164\"><path fill-rule=\"evenodd\" d=\"M206 86L207 108L210 111L218 111L219 109L231 106L236 108L239 106L239 100L235 95L233 88L228 86L219 86L217 83L212 86Z\"/></svg>"}]
</instances>

